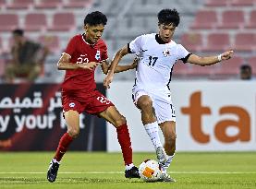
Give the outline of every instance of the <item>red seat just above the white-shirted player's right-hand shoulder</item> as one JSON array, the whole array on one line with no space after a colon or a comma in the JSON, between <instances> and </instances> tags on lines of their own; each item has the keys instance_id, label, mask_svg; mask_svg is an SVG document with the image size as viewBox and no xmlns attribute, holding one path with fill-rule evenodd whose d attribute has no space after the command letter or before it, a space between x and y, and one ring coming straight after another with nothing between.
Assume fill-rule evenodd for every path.
<instances>
[{"instance_id":1,"label":"red seat just above the white-shirted player's right-hand shoulder","mask_svg":"<svg viewBox=\"0 0 256 189\"><path fill-rule=\"evenodd\" d=\"M202 47L201 33L185 33L181 36L181 44L191 52L199 52Z\"/></svg>"}]
</instances>

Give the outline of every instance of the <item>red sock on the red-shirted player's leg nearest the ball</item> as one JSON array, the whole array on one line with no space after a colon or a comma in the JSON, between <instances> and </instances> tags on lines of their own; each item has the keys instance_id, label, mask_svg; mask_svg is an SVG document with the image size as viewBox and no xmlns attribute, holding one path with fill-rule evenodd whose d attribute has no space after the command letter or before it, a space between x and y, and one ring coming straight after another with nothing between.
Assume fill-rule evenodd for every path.
<instances>
[{"instance_id":1,"label":"red sock on the red-shirted player's leg nearest the ball","mask_svg":"<svg viewBox=\"0 0 256 189\"><path fill-rule=\"evenodd\" d=\"M132 163L132 148L131 148L131 142L130 142L130 137L128 133L128 125L123 124L121 126L118 126L116 128L116 133L117 133L118 142L122 148L125 164L128 165Z\"/></svg>"}]
</instances>

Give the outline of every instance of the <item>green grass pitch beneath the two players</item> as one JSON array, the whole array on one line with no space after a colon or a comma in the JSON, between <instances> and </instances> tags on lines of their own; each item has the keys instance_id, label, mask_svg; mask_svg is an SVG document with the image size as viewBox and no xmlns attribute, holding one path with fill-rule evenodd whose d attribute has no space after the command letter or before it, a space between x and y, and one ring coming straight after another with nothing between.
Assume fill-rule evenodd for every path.
<instances>
[{"instance_id":1,"label":"green grass pitch beneath the two players","mask_svg":"<svg viewBox=\"0 0 256 189\"><path fill-rule=\"evenodd\" d=\"M54 152L1 152L0 188L256 188L255 152L194 152L177 155L169 173L177 183L144 183L124 177L120 153L67 152L55 183L46 180ZM152 153L134 153L134 163L155 159Z\"/></svg>"}]
</instances>

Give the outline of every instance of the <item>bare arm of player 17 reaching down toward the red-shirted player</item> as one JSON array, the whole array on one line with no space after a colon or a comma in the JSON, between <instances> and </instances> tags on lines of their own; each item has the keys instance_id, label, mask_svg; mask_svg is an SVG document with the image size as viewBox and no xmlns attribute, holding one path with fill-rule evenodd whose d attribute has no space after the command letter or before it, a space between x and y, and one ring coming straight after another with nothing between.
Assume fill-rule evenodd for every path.
<instances>
[{"instance_id":1,"label":"bare arm of player 17 reaching down toward the red-shirted player","mask_svg":"<svg viewBox=\"0 0 256 189\"><path fill-rule=\"evenodd\" d=\"M110 65L110 68L108 70L107 76L104 78L104 87L106 89L110 88L109 85L113 80L116 65L118 65L121 58L126 54L128 54L128 46L124 46L122 49L118 50L117 53L115 54L114 59L113 59L111 65Z\"/></svg>"}]
</instances>

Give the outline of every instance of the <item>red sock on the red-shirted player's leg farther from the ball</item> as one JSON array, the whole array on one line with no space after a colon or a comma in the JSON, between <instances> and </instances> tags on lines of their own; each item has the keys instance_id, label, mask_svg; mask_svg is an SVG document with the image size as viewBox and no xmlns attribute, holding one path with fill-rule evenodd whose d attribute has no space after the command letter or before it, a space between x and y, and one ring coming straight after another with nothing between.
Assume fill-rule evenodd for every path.
<instances>
[{"instance_id":1,"label":"red sock on the red-shirted player's leg farther from the ball","mask_svg":"<svg viewBox=\"0 0 256 189\"><path fill-rule=\"evenodd\" d=\"M57 161L60 161L67 151L67 148L69 147L70 143L73 141L73 138L68 135L68 133L64 134L58 143L58 148L55 152L55 159Z\"/></svg>"}]
</instances>

